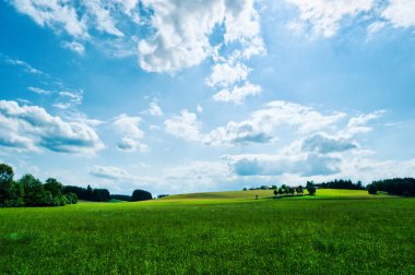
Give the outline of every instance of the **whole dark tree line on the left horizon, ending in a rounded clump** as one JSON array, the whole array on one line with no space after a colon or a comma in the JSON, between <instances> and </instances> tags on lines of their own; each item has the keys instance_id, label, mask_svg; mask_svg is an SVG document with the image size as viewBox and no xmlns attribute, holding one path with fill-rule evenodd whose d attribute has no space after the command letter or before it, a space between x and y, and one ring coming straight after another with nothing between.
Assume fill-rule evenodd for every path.
<instances>
[{"instance_id":1,"label":"whole dark tree line on the left horizon, ending in a rounded clump","mask_svg":"<svg viewBox=\"0 0 415 275\"><path fill-rule=\"evenodd\" d=\"M75 204L78 200L93 202L145 201L153 196L145 190L134 190L131 195L110 194L107 189L93 189L63 186L54 178L48 178L45 183L33 175L26 174L19 180L14 180L13 168L7 164L0 164L0 207L20 206L64 206Z\"/></svg>"}]
</instances>

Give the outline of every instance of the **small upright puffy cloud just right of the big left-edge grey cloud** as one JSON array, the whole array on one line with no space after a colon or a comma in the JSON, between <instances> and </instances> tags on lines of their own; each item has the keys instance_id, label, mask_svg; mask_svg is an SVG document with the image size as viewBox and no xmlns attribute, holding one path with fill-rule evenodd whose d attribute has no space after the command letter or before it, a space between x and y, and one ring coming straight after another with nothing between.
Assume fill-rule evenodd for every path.
<instances>
[{"instance_id":1,"label":"small upright puffy cloud just right of the big left-edge grey cloud","mask_svg":"<svg viewBox=\"0 0 415 275\"><path fill-rule=\"evenodd\" d=\"M123 152L149 151L149 146L140 141L144 138L144 132L139 127L141 121L140 117L130 117L126 113L115 118L112 127L121 135L121 140L117 144L118 150Z\"/></svg>"}]
</instances>

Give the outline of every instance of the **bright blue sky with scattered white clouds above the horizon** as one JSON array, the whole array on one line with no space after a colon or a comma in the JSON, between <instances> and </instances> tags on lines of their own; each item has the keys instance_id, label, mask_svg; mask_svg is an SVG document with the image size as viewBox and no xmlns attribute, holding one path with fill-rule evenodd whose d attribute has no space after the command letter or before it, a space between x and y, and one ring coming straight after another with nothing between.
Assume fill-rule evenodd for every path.
<instances>
[{"instance_id":1,"label":"bright blue sky with scattered white clouds above the horizon","mask_svg":"<svg viewBox=\"0 0 415 275\"><path fill-rule=\"evenodd\" d=\"M1 0L0 163L129 194L415 177L414 0Z\"/></svg>"}]
</instances>

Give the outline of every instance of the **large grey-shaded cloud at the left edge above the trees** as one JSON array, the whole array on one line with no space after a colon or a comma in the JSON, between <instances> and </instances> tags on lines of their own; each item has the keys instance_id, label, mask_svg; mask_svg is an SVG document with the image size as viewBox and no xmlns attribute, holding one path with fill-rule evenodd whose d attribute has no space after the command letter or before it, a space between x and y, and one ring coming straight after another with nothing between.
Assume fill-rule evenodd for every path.
<instances>
[{"instance_id":1,"label":"large grey-shaded cloud at the left edge above the trees","mask_svg":"<svg viewBox=\"0 0 415 275\"><path fill-rule=\"evenodd\" d=\"M104 144L93 128L63 121L38 106L0 100L0 145L23 151L95 154Z\"/></svg>"}]
</instances>

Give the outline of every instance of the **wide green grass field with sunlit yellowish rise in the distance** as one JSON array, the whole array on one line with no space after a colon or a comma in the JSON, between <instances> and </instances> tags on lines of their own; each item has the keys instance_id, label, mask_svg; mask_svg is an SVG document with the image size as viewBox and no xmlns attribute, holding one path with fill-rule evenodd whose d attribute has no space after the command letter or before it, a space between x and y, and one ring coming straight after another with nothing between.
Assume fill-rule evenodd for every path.
<instances>
[{"instance_id":1,"label":"wide green grass field with sunlit yellowish rise in the distance","mask_svg":"<svg viewBox=\"0 0 415 275\"><path fill-rule=\"evenodd\" d=\"M415 274L414 199L268 198L0 208L0 274Z\"/></svg>"}]
</instances>

